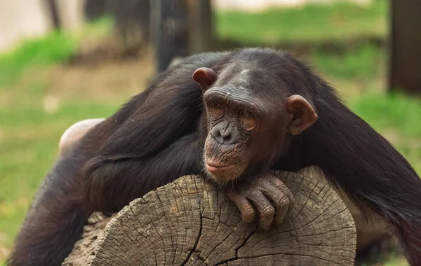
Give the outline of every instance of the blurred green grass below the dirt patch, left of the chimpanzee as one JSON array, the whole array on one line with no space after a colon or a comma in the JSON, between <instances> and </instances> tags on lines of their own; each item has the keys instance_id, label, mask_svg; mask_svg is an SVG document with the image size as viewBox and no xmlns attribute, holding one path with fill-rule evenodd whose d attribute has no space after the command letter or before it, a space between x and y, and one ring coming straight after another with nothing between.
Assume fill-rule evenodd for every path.
<instances>
[{"instance_id":1,"label":"blurred green grass below the dirt patch, left of the chimpanzee","mask_svg":"<svg viewBox=\"0 0 421 266\"><path fill-rule=\"evenodd\" d=\"M11 246L32 195L55 160L61 134L78 120L111 115L119 104L66 102L55 113L36 106L0 109L0 235L6 235L0 246Z\"/></svg>"}]
</instances>

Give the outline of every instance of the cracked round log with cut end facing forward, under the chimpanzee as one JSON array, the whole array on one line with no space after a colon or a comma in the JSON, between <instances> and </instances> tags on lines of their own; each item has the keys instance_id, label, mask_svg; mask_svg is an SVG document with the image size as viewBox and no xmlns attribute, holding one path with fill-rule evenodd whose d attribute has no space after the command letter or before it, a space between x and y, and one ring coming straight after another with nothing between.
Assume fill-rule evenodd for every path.
<instances>
[{"instance_id":1,"label":"cracked round log with cut end facing forward, under the chimpanzee","mask_svg":"<svg viewBox=\"0 0 421 266\"><path fill-rule=\"evenodd\" d=\"M91 221L63 265L354 265L354 220L335 190L309 176L274 174L296 204L267 232L258 221L243 223L213 183L183 176Z\"/></svg>"}]
</instances>

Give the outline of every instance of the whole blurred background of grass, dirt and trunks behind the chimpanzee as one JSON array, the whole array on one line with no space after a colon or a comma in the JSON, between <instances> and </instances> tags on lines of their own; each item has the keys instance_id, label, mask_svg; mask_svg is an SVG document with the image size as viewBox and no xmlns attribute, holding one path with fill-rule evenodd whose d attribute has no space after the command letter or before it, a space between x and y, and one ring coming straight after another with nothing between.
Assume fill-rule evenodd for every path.
<instances>
[{"instance_id":1,"label":"whole blurred background of grass, dirt and trunks behind the chimpanzee","mask_svg":"<svg viewBox=\"0 0 421 266\"><path fill-rule=\"evenodd\" d=\"M196 52L294 52L421 174L420 13L410 0L0 0L0 265L67 127Z\"/></svg>"}]
</instances>

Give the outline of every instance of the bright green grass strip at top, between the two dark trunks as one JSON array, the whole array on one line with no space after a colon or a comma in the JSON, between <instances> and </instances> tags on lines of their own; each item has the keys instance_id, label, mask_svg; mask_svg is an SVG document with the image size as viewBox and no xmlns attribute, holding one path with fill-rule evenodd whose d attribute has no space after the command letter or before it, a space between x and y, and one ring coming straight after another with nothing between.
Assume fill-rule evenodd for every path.
<instances>
[{"instance_id":1,"label":"bright green grass strip at top, between the two dark trunks","mask_svg":"<svg viewBox=\"0 0 421 266\"><path fill-rule=\"evenodd\" d=\"M215 21L222 38L248 42L385 36L388 3L387 0L375 0L364 7L338 1L331 6L311 4L293 9L271 8L262 13L227 11L217 13Z\"/></svg>"}]
</instances>

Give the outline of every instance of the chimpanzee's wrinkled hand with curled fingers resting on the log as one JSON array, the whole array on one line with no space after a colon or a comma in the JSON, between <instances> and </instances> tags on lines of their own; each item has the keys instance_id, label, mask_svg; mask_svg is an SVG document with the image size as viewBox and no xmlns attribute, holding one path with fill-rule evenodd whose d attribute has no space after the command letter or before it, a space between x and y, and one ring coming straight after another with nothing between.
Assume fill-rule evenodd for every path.
<instances>
[{"instance_id":1,"label":"chimpanzee's wrinkled hand with curled fingers resting on the log","mask_svg":"<svg viewBox=\"0 0 421 266\"><path fill-rule=\"evenodd\" d=\"M294 205L293 194L290 190L282 181L270 174L256 176L250 181L244 181L236 188L229 188L227 195L241 211L245 223L251 223L255 218L253 203L260 212L262 230L268 230L274 219L276 223L281 223L288 209Z\"/></svg>"}]
</instances>

